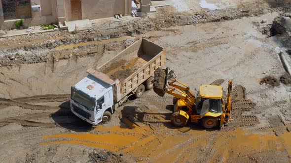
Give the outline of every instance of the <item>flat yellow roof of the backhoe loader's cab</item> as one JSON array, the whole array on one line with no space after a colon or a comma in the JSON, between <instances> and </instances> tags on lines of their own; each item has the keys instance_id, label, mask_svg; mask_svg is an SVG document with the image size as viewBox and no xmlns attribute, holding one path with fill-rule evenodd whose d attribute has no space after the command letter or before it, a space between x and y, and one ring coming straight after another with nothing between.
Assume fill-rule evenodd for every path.
<instances>
[{"instance_id":1,"label":"flat yellow roof of the backhoe loader's cab","mask_svg":"<svg viewBox=\"0 0 291 163\"><path fill-rule=\"evenodd\" d=\"M200 96L202 98L221 99L222 98L222 86L200 85L199 93L200 93Z\"/></svg>"}]
</instances>

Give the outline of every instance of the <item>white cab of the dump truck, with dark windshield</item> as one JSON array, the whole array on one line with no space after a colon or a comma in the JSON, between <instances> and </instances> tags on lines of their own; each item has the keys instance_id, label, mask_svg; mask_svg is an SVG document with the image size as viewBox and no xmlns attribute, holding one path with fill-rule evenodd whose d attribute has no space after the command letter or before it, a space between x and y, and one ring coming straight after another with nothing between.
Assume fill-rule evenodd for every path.
<instances>
[{"instance_id":1,"label":"white cab of the dump truck, with dark windshield","mask_svg":"<svg viewBox=\"0 0 291 163\"><path fill-rule=\"evenodd\" d=\"M92 125L109 121L113 113L112 86L91 74L72 87L71 110Z\"/></svg>"}]
</instances>

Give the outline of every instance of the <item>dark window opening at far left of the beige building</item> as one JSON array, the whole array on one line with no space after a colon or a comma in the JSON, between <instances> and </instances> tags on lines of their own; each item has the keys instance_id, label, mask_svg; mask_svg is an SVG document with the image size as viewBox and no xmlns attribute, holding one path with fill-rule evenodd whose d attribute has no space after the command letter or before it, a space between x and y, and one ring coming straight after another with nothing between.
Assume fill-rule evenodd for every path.
<instances>
[{"instance_id":1,"label":"dark window opening at far left of the beige building","mask_svg":"<svg viewBox=\"0 0 291 163\"><path fill-rule=\"evenodd\" d=\"M2 0L4 20L31 18L30 0Z\"/></svg>"}]
</instances>

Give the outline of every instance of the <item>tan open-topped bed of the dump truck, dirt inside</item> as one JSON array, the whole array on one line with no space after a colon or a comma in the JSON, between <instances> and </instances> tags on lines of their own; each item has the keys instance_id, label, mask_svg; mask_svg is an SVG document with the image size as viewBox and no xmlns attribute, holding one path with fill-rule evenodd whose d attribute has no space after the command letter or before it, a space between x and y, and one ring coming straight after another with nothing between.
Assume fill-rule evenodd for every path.
<instances>
[{"instance_id":1,"label":"tan open-topped bed of the dump truck, dirt inside","mask_svg":"<svg viewBox=\"0 0 291 163\"><path fill-rule=\"evenodd\" d=\"M102 81L115 84L115 102L134 91L165 64L166 51L146 39L140 39L95 70L88 73Z\"/></svg>"}]
</instances>

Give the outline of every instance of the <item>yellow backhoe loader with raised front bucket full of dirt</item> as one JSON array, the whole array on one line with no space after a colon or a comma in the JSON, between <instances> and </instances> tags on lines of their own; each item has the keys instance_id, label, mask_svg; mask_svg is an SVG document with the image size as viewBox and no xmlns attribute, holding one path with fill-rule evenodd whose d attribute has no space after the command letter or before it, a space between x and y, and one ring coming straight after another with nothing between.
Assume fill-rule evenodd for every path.
<instances>
[{"instance_id":1,"label":"yellow backhoe loader with raised front bucket full of dirt","mask_svg":"<svg viewBox=\"0 0 291 163\"><path fill-rule=\"evenodd\" d=\"M232 81L228 81L227 96L222 86L201 85L195 97L187 85L176 80L173 70L169 71L167 68L158 71L160 72L155 73L154 91L162 97L165 93L175 96L171 115L174 125L183 127L190 119L191 122L200 123L206 129L212 129L223 127L230 120ZM166 74L165 80L161 80L161 76L164 77L161 75L163 73ZM158 84L163 85L163 88L161 86L158 88Z\"/></svg>"}]
</instances>

